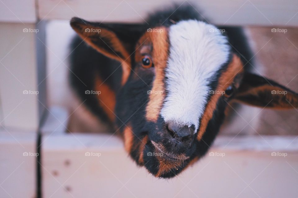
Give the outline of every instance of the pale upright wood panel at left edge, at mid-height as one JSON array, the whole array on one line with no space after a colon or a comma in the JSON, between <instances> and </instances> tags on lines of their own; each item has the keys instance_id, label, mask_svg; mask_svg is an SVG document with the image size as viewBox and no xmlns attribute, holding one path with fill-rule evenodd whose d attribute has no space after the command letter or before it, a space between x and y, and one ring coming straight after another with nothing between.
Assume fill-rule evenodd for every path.
<instances>
[{"instance_id":1,"label":"pale upright wood panel at left edge, at mid-height","mask_svg":"<svg viewBox=\"0 0 298 198\"><path fill-rule=\"evenodd\" d=\"M43 28L43 23L0 23L0 124L5 127L37 130L46 105L45 81L39 84L45 76L45 56L36 55L45 48Z\"/></svg>"}]
</instances>

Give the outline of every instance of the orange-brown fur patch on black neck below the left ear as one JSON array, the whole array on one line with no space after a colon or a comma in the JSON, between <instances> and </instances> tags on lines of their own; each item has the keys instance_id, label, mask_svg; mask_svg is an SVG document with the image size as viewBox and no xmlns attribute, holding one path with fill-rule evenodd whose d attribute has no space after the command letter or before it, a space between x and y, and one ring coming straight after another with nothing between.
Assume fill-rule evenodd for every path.
<instances>
[{"instance_id":1,"label":"orange-brown fur patch on black neck below the left ear","mask_svg":"<svg viewBox=\"0 0 298 198\"><path fill-rule=\"evenodd\" d=\"M111 90L107 84L102 83L102 80L99 77L95 77L94 87L97 91L101 92L97 95L99 105L102 107L108 118L111 121L114 121L114 109L116 104L115 92Z\"/></svg>"}]
</instances>

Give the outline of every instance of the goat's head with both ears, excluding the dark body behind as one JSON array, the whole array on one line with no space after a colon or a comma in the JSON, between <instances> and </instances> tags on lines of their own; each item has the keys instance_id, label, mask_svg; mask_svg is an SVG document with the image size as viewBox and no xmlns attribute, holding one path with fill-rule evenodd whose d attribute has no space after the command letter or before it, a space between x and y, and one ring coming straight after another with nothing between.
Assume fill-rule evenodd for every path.
<instances>
[{"instance_id":1,"label":"goat's head with both ears, excluding the dark body behind","mask_svg":"<svg viewBox=\"0 0 298 198\"><path fill-rule=\"evenodd\" d=\"M120 62L121 87L111 109L115 125L126 151L156 177L173 177L207 152L231 100L297 107L296 93L246 73L213 25L185 20L131 35L78 18L71 26L98 52Z\"/></svg>"}]
</instances>

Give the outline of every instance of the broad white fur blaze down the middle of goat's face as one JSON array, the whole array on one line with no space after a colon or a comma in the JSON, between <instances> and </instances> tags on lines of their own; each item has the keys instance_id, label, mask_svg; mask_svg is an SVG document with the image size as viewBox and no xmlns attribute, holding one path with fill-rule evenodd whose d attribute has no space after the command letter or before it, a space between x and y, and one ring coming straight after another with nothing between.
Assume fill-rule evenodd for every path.
<instances>
[{"instance_id":1,"label":"broad white fur blaze down the middle of goat's face","mask_svg":"<svg viewBox=\"0 0 298 198\"><path fill-rule=\"evenodd\" d=\"M210 79L228 61L230 46L213 25L181 21L169 28L165 69L167 97L160 111L166 123L199 127L210 90Z\"/></svg>"}]
</instances>

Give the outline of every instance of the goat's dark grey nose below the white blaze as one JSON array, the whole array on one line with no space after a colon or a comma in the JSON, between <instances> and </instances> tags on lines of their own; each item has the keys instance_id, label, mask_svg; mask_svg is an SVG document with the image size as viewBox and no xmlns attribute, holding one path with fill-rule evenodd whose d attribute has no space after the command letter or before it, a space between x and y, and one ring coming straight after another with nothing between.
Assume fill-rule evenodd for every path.
<instances>
[{"instance_id":1,"label":"goat's dark grey nose below the white blaze","mask_svg":"<svg viewBox=\"0 0 298 198\"><path fill-rule=\"evenodd\" d=\"M180 142L186 142L188 140L191 140L193 138L194 135L194 129L195 127L192 126L178 126L175 123L169 123L168 124L168 129L169 129L169 133L170 135L180 141Z\"/></svg>"}]
</instances>

